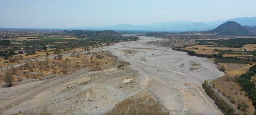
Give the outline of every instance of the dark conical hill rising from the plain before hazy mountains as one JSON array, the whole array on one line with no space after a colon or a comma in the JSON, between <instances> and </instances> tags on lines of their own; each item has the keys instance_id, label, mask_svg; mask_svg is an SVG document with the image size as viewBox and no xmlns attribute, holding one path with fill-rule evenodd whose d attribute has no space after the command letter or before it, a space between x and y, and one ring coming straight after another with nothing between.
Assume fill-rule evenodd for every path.
<instances>
[{"instance_id":1,"label":"dark conical hill rising from the plain before hazy mountains","mask_svg":"<svg viewBox=\"0 0 256 115\"><path fill-rule=\"evenodd\" d=\"M249 29L246 26L241 26L234 21L228 21L221 24L215 29L203 31L202 33L217 33L218 35L248 35Z\"/></svg>"}]
</instances>

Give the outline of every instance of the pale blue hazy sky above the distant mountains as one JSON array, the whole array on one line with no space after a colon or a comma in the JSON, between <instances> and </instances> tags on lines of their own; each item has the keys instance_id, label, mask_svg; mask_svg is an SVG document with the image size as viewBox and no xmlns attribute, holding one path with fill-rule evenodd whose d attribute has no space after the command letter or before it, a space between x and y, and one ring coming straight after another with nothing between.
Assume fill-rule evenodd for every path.
<instances>
[{"instance_id":1,"label":"pale blue hazy sky above the distant mountains","mask_svg":"<svg viewBox=\"0 0 256 115\"><path fill-rule=\"evenodd\" d=\"M256 0L0 0L0 27L67 29L255 17Z\"/></svg>"}]
</instances>

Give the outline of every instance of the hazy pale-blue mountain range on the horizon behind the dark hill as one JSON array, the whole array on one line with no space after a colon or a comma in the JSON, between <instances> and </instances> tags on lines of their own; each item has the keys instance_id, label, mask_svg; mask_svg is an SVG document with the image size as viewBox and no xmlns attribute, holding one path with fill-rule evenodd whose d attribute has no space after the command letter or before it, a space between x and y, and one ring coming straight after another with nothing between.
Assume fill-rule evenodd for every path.
<instances>
[{"instance_id":1,"label":"hazy pale-blue mountain range on the horizon behind the dark hill","mask_svg":"<svg viewBox=\"0 0 256 115\"><path fill-rule=\"evenodd\" d=\"M166 32L185 32L185 31L206 31L215 29L220 24L235 21L242 26L256 26L256 17L239 17L229 20L216 20L213 22L192 22L187 20L174 21L169 23L152 23L145 25L119 24L102 27L81 27L71 29L93 29L93 30L140 30L140 31L166 31Z\"/></svg>"}]
</instances>

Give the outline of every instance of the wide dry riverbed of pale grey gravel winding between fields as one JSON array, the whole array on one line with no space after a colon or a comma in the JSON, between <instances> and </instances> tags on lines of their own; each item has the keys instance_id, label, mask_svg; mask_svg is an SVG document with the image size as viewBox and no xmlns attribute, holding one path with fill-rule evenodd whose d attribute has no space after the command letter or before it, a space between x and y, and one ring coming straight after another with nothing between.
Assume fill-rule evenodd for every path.
<instances>
[{"instance_id":1,"label":"wide dry riverbed of pale grey gravel winding between fields","mask_svg":"<svg viewBox=\"0 0 256 115\"><path fill-rule=\"evenodd\" d=\"M140 39L94 49L112 52L131 63L131 69L98 72L80 69L70 75L0 88L0 114L21 110L26 115L35 115L47 110L52 114L100 115L142 92L170 115L223 115L201 88L204 80L224 75L211 60L147 44L161 39Z\"/></svg>"}]
</instances>

